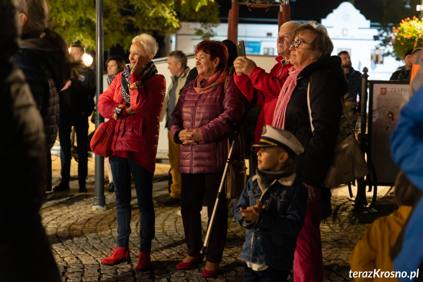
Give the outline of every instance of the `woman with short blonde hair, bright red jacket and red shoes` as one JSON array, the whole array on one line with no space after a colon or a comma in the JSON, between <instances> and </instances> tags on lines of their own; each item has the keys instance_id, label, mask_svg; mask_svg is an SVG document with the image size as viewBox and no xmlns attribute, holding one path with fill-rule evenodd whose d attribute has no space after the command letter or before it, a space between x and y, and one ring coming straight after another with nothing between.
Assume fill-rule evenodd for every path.
<instances>
[{"instance_id":1,"label":"woman with short blonde hair, bright red jacket and red shoes","mask_svg":"<svg viewBox=\"0 0 423 282\"><path fill-rule=\"evenodd\" d=\"M150 267L154 238L152 177L155 169L160 112L166 94L166 80L157 75L151 59L158 51L156 40L141 34L132 40L130 66L113 79L100 95L99 111L105 118L117 118L109 157L115 183L118 237L112 255L101 263L115 265L130 259L131 174L140 209L140 254L137 268Z\"/></svg>"}]
</instances>

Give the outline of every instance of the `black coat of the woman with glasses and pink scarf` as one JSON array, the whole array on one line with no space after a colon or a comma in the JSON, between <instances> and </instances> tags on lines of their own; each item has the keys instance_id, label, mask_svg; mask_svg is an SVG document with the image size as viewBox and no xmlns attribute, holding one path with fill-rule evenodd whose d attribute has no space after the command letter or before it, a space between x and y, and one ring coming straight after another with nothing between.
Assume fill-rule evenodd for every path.
<instances>
[{"instance_id":1,"label":"black coat of the woman with glasses and pink scarf","mask_svg":"<svg viewBox=\"0 0 423 282\"><path fill-rule=\"evenodd\" d=\"M313 133L307 107L309 83ZM286 109L285 129L291 131L304 147L304 153L295 158L297 176L303 183L322 186L339 132L341 97L347 89L339 56L311 63L297 78L297 86Z\"/></svg>"}]
</instances>

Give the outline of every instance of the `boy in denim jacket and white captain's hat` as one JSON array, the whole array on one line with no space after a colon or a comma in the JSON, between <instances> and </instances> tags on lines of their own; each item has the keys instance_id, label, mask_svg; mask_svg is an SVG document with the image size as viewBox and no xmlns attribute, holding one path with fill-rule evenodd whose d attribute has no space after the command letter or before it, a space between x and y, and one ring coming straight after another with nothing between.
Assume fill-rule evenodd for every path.
<instances>
[{"instance_id":1,"label":"boy in denim jacket and white captain's hat","mask_svg":"<svg viewBox=\"0 0 423 282\"><path fill-rule=\"evenodd\" d=\"M297 236L304 223L307 189L296 179L293 158L304 152L289 131L263 127L256 175L235 206L235 221L246 228L241 252L244 282L286 281Z\"/></svg>"}]
</instances>

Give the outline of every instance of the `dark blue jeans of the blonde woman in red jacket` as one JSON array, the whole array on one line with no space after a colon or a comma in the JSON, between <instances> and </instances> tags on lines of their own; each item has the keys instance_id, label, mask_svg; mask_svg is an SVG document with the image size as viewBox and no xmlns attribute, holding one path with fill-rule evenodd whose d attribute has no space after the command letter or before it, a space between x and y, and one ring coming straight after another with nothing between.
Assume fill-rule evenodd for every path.
<instances>
[{"instance_id":1,"label":"dark blue jeans of the blonde woman in red jacket","mask_svg":"<svg viewBox=\"0 0 423 282\"><path fill-rule=\"evenodd\" d=\"M116 247L127 248L129 246L132 174L140 210L140 252L149 253L151 240L154 239L153 175L128 158L112 155L109 159L116 195L116 218L118 221Z\"/></svg>"}]
</instances>

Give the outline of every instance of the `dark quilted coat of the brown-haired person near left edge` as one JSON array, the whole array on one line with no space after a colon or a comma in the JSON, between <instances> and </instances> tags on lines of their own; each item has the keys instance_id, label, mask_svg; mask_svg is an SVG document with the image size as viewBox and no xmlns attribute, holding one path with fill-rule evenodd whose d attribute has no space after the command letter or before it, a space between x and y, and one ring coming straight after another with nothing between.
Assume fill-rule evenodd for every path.
<instances>
[{"instance_id":1,"label":"dark quilted coat of the brown-haired person near left edge","mask_svg":"<svg viewBox=\"0 0 423 282\"><path fill-rule=\"evenodd\" d=\"M19 51L12 57L25 75L32 96L44 121L47 150L54 145L59 122L59 95L67 65L64 55L49 39L30 38L22 40Z\"/></svg>"}]
</instances>

